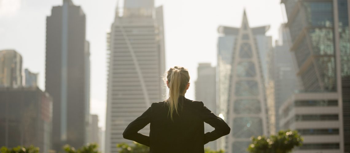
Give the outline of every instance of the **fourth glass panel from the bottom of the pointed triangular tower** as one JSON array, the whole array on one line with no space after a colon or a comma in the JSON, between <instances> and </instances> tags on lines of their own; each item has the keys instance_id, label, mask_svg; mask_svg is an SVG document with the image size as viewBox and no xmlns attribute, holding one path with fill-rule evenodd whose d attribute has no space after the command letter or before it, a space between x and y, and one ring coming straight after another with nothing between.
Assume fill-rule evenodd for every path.
<instances>
[{"instance_id":1,"label":"fourth glass panel from the bottom of the pointed triangular tower","mask_svg":"<svg viewBox=\"0 0 350 153\"><path fill-rule=\"evenodd\" d=\"M257 96L259 95L258 83L253 80L238 81L236 83L237 96Z\"/></svg>"}]
</instances>

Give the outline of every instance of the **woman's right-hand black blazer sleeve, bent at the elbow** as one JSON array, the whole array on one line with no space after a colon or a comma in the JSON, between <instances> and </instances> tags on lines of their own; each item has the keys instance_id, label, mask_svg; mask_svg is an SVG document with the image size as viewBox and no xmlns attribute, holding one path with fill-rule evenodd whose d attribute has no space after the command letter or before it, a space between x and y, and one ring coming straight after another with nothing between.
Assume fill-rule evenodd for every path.
<instances>
[{"instance_id":1,"label":"woman's right-hand black blazer sleeve, bent at the elbow","mask_svg":"<svg viewBox=\"0 0 350 153\"><path fill-rule=\"evenodd\" d=\"M203 121L215 128L215 130L204 134L204 144L207 144L210 141L214 141L222 136L228 135L231 131L229 125L227 125L222 118L216 116L207 107L205 107L203 102L201 103L201 115Z\"/></svg>"}]
</instances>

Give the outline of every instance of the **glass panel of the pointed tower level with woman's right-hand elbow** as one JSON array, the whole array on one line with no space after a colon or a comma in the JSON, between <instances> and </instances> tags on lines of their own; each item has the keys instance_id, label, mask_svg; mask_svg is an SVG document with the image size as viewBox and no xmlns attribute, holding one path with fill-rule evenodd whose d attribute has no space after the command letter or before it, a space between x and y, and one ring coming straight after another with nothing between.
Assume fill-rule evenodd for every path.
<instances>
[{"instance_id":1,"label":"glass panel of the pointed tower level with woman's right-hand elbow","mask_svg":"<svg viewBox=\"0 0 350 153\"><path fill-rule=\"evenodd\" d=\"M233 119L232 135L235 138L250 138L262 135L262 120L259 117Z\"/></svg>"}]
</instances>

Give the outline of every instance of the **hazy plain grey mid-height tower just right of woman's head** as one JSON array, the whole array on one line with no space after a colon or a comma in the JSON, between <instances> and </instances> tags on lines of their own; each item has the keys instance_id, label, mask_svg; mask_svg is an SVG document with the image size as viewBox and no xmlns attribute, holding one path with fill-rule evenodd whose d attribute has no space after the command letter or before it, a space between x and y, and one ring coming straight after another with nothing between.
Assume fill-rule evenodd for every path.
<instances>
[{"instance_id":1,"label":"hazy plain grey mid-height tower just right of woman's head","mask_svg":"<svg viewBox=\"0 0 350 153\"><path fill-rule=\"evenodd\" d=\"M216 114L216 68L211 67L210 63L200 63L197 69L198 77L195 82L196 100L203 101L204 106L208 107L214 114ZM204 132L214 130L209 124L204 124ZM217 142L212 141L205 144L204 147L210 147L212 150L217 150Z\"/></svg>"}]
</instances>

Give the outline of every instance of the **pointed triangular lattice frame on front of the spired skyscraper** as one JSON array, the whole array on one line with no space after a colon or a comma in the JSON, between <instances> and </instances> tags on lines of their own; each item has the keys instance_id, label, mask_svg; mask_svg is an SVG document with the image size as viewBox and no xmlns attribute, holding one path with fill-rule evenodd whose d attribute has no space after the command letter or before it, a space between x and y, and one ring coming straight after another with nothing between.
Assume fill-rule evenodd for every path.
<instances>
[{"instance_id":1,"label":"pointed triangular lattice frame on front of the spired skyscraper","mask_svg":"<svg viewBox=\"0 0 350 153\"><path fill-rule=\"evenodd\" d=\"M266 29L251 29L244 12L231 62L227 121L232 131L226 146L229 153L244 153L250 137L269 134L264 79L254 33L265 33Z\"/></svg>"}]
</instances>

